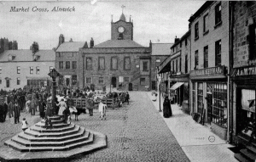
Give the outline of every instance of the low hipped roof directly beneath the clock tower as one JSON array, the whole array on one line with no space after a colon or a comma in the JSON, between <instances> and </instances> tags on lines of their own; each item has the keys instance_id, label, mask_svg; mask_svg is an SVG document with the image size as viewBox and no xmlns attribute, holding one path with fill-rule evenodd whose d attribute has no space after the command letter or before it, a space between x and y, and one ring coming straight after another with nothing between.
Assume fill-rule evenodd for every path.
<instances>
[{"instance_id":1,"label":"low hipped roof directly beneath the clock tower","mask_svg":"<svg viewBox=\"0 0 256 162\"><path fill-rule=\"evenodd\" d=\"M143 47L142 45L132 40L108 40L97 44L95 47Z\"/></svg>"}]
</instances>

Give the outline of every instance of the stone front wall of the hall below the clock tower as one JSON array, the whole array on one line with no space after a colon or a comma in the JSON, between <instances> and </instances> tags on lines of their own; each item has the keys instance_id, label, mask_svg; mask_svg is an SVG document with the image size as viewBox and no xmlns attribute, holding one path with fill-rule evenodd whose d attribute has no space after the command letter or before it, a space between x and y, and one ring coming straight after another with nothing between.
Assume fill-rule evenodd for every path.
<instances>
[{"instance_id":1,"label":"stone front wall of the hall below the clock tower","mask_svg":"<svg viewBox=\"0 0 256 162\"><path fill-rule=\"evenodd\" d=\"M84 59L83 59L84 57ZM105 59L105 69L99 70L99 58ZM117 70L111 69L111 58L117 58ZM124 59L130 57L131 69L124 69ZM86 70L86 58L92 59L92 70ZM83 60L83 61L82 61ZM143 61L148 61L148 71L143 71ZM83 68L84 67L84 68ZM84 70L84 74L83 74ZM129 83L132 83L133 90L147 90L150 86L150 49L145 48L81 48L79 51L79 87L90 86L86 83L86 77L92 78L92 83L96 85L96 89L102 87L110 87L112 77L116 77L117 84L120 89L127 91ZM84 75L84 76L83 76ZM99 77L103 78L103 83L99 83ZM125 81L125 77L129 81ZM123 82L120 79L123 78ZM141 83L141 78L145 78L145 82ZM82 81L82 82L81 82ZM84 83L83 83L84 81ZM82 84L83 83L83 84Z\"/></svg>"}]
</instances>

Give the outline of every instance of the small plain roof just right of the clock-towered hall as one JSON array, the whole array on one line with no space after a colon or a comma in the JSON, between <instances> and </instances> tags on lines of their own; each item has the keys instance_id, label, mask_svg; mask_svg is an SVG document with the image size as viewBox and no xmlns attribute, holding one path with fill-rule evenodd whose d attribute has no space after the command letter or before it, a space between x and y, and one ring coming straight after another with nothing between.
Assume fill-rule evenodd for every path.
<instances>
[{"instance_id":1,"label":"small plain roof just right of the clock-towered hall","mask_svg":"<svg viewBox=\"0 0 256 162\"><path fill-rule=\"evenodd\" d=\"M170 55L173 43L152 43L151 55Z\"/></svg>"}]
</instances>

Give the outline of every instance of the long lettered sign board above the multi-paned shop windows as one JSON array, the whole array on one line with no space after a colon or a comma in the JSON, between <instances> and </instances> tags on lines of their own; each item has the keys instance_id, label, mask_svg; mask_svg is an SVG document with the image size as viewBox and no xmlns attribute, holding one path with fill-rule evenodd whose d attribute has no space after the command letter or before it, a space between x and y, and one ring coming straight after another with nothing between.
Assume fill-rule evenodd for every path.
<instances>
[{"instance_id":1,"label":"long lettered sign board above the multi-paned shop windows","mask_svg":"<svg viewBox=\"0 0 256 162\"><path fill-rule=\"evenodd\" d=\"M224 66L217 66L202 70L193 70L190 71L190 76L199 76L199 75L224 75Z\"/></svg>"}]
</instances>

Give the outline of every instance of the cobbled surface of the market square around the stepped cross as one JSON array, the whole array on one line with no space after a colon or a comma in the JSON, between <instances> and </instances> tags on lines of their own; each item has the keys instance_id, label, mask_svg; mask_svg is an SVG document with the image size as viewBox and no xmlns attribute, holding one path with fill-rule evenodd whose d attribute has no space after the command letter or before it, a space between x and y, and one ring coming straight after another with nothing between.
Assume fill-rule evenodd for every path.
<instances>
[{"instance_id":1,"label":"cobbled surface of the market square around the stepped cross","mask_svg":"<svg viewBox=\"0 0 256 162\"><path fill-rule=\"evenodd\" d=\"M108 109L107 120L100 120L99 113L79 115L74 121L86 129L100 131L108 137L108 148L92 154L81 155L71 161L189 161L172 132L154 108L146 92L130 92L131 103L119 109ZM30 124L38 116L22 113ZM73 116L74 117L74 116ZM13 123L13 118L10 120ZM0 125L1 147L3 142L21 131L20 125L9 124L9 117Z\"/></svg>"}]
</instances>

